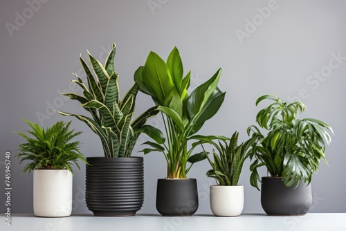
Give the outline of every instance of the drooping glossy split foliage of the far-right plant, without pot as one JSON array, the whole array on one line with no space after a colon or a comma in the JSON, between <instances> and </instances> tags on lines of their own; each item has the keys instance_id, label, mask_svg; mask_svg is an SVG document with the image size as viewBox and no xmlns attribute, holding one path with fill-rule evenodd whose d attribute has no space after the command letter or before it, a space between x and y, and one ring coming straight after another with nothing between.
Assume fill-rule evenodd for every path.
<instances>
[{"instance_id":1,"label":"drooping glossy split foliage of the far-right plant, without pot","mask_svg":"<svg viewBox=\"0 0 346 231\"><path fill-rule=\"evenodd\" d=\"M325 147L331 142L331 127L313 118L298 118L306 107L302 102L284 102L275 95L262 95L262 100L271 100L268 107L256 116L258 125L267 131L262 133L255 125L248 127L248 135L256 139L249 156L251 164L251 185L260 190L259 167L265 166L271 176L282 178L287 187L296 186L304 178L311 182L311 176L319 169L320 160L325 158Z\"/></svg>"}]
</instances>

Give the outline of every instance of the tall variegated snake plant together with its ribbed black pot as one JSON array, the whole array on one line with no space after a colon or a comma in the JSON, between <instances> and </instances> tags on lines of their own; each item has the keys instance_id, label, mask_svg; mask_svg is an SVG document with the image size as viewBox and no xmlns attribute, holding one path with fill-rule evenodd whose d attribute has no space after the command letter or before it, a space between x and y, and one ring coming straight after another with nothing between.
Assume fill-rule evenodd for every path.
<instances>
[{"instance_id":1,"label":"tall variegated snake plant together with its ribbed black pot","mask_svg":"<svg viewBox=\"0 0 346 231\"><path fill-rule=\"evenodd\" d=\"M85 122L102 142L104 157L87 157L86 165L86 206L95 216L131 216L136 214L144 200L143 157L131 157L139 129L148 118L158 113L152 107L134 120L135 101L139 86L134 84L120 100L119 75L115 72L113 43L106 62L102 65L90 53L89 66L80 57L86 73L88 86L80 77L73 80L83 90L83 95L63 93L72 100L78 100L81 107L92 118L75 113L72 115Z\"/></svg>"}]
</instances>

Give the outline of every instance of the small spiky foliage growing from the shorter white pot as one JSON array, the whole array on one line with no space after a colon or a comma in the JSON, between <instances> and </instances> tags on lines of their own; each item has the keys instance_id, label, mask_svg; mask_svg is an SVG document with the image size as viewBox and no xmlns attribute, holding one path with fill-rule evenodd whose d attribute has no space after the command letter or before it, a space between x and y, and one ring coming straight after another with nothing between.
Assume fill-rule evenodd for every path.
<instances>
[{"instance_id":1,"label":"small spiky foliage growing from the shorter white pot","mask_svg":"<svg viewBox=\"0 0 346 231\"><path fill-rule=\"evenodd\" d=\"M244 161L248 156L248 149L255 141L255 139L251 138L238 145L238 136L239 133L235 131L228 143L224 140L222 142L219 141L219 144L210 139L203 140L204 143L207 142L213 145L219 153L217 154L215 149L212 149L213 161L202 145L203 151L212 167L212 169L207 172L207 176L215 178L218 185L233 186L238 184Z\"/></svg>"}]
</instances>

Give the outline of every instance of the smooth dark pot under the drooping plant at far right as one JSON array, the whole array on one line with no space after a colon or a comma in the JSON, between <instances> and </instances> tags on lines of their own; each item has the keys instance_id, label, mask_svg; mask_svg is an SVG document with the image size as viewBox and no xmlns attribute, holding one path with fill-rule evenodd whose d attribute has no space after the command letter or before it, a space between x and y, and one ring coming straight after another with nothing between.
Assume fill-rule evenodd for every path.
<instances>
[{"instance_id":1,"label":"smooth dark pot under the drooping plant at far right","mask_svg":"<svg viewBox=\"0 0 346 231\"><path fill-rule=\"evenodd\" d=\"M262 177L261 204L268 215L307 214L312 205L311 184L302 179L298 187L286 187L280 177Z\"/></svg>"}]
</instances>

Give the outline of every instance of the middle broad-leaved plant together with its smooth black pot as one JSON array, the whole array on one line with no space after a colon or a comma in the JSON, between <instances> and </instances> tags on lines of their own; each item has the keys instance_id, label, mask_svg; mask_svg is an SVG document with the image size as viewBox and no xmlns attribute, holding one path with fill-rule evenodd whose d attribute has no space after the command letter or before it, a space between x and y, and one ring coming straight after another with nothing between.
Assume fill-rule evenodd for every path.
<instances>
[{"instance_id":1,"label":"middle broad-leaved plant together with its smooth black pot","mask_svg":"<svg viewBox=\"0 0 346 231\"><path fill-rule=\"evenodd\" d=\"M161 151L167 161L167 178L158 179L156 190L156 209L163 215L188 216L197 211L197 181L187 174L206 154L202 151L192 155L194 147L188 148L188 141L199 138L196 133L224 102L225 93L217 88L220 75L221 68L189 94L191 72L183 77L177 48L172 50L167 62L150 52L145 65L135 73L140 91L152 96L165 126L165 136L155 127L140 129L155 141L145 142L150 148L143 149L144 154Z\"/></svg>"}]
</instances>

